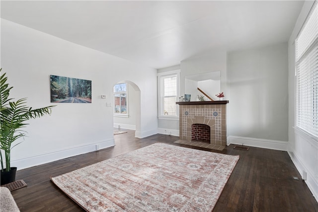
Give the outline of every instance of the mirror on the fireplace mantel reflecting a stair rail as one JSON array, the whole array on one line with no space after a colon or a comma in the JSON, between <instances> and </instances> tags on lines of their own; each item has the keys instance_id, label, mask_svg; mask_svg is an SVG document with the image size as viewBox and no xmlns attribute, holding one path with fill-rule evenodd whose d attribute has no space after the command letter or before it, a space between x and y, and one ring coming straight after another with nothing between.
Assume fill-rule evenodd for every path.
<instances>
[{"instance_id":1,"label":"mirror on the fireplace mantel reflecting a stair rail","mask_svg":"<svg viewBox=\"0 0 318 212\"><path fill-rule=\"evenodd\" d=\"M199 101L198 88L213 100L218 100L215 95L221 92L220 71L188 75L185 76L184 80L184 92L191 94L191 101Z\"/></svg>"}]
</instances>

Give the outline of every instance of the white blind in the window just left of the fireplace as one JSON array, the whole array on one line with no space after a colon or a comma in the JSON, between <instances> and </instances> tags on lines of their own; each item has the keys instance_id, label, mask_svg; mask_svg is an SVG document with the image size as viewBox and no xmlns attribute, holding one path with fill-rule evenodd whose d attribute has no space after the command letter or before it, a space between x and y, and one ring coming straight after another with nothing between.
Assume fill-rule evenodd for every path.
<instances>
[{"instance_id":1,"label":"white blind in the window just left of the fireplace","mask_svg":"<svg viewBox=\"0 0 318 212\"><path fill-rule=\"evenodd\" d=\"M165 76L163 80L163 112L164 116L176 116L177 75Z\"/></svg>"}]
</instances>

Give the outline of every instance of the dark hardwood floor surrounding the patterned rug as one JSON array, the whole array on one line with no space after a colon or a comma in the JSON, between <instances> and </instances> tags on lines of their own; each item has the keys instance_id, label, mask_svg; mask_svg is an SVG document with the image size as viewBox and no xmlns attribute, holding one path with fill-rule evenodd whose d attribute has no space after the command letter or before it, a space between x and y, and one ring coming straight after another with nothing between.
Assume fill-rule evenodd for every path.
<instances>
[{"instance_id":1,"label":"dark hardwood floor surrounding the patterned rug","mask_svg":"<svg viewBox=\"0 0 318 212\"><path fill-rule=\"evenodd\" d=\"M114 147L17 171L16 179L23 179L28 184L27 187L12 191L20 211L83 211L53 185L50 176L58 176L156 142L200 149L173 143L179 138L167 135L137 139L134 138L134 131L130 130L114 138ZM244 151L233 148L234 145L227 146L223 151L201 148L240 156L214 212L318 212L317 201L301 180L286 151L256 147ZM294 180L293 177L300 180Z\"/></svg>"}]
</instances>

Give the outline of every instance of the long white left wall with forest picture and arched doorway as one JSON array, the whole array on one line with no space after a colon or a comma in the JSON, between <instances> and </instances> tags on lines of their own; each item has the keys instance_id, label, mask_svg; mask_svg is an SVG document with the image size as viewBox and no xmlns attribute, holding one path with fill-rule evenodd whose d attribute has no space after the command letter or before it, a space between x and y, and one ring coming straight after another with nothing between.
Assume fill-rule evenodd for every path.
<instances>
[{"instance_id":1,"label":"long white left wall with forest picture and arched doorway","mask_svg":"<svg viewBox=\"0 0 318 212\"><path fill-rule=\"evenodd\" d=\"M50 103L50 74L92 81L92 103L58 103L52 115L30 120L12 166L19 169L114 145L113 85L131 80L140 88L140 137L157 133L157 70L107 55L1 19L1 67L15 99L34 108ZM141 77L143 76L143 77ZM101 94L106 99L101 99ZM155 94L155 95L154 95Z\"/></svg>"}]
</instances>

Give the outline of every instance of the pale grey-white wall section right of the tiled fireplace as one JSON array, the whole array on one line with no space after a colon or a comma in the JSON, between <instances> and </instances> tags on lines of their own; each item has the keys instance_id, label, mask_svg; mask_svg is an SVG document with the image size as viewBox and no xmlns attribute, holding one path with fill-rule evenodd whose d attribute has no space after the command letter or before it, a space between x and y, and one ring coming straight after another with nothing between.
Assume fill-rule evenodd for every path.
<instances>
[{"instance_id":1,"label":"pale grey-white wall section right of the tiled fireplace","mask_svg":"<svg viewBox=\"0 0 318 212\"><path fill-rule=\"evenodd\" d=\"M267 141L287 148L287 50L287 43L283 43L229 53L228 135L231 143L248 138L254 139L254 143L245 141L246 145L262 146Z\"/></svg>"}]
</instances>

